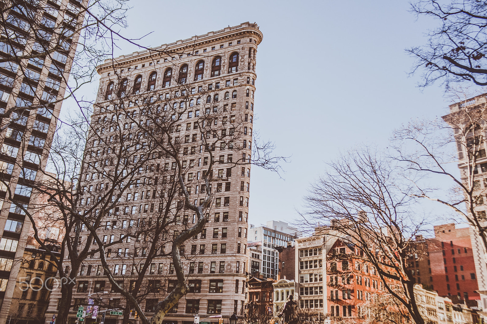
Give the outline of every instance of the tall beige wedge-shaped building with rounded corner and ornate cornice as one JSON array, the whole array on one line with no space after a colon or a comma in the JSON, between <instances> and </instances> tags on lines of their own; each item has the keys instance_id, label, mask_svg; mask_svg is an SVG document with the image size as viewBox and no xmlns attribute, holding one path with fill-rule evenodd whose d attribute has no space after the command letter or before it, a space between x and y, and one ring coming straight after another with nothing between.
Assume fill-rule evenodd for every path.
<instances>
[{"instance_id":1,"label":"tall beige wedge-shaped building with rounded corner and ornate cornice","mask_svg":"<svg viewBox=\"0 0 487 324\"><path fill-rule=\"evenodd\" d=\"M218 126L223 127L225 132L227 131L225 127L228 127L225 126L227 117L230 124L235 119L242 121L240 126L242 127L243 144L240 144L239 150L233 150L233 146L230 145L219 145L214 153L218 162L215 164L213 175L215 178L221 178L221 182L218 182L218 186L215 182L217 189L214 204L211 210L206 211L208 222L204 232L189 239L181 250L181 254L185 255L183 267L189 280L190 292L179 301L177 306L173 307L165 317L165 323L193 323L196 314L199 314L202 321L206 317L219 314L227 321L231 314L239 315L243 311L244 288L249 267L246 250L250 165L236 166L231 162L232 158L234 161L240 157L243 160L250 159L252 151L250 143L252 142L255 79L257 77L255 59L257 46L261 41L262 33L258 26L255 23L245 22L238 26L154 48L154 50L164 50L165 53L170 52L171 55L154 55L153 52L146 50L122 55L114 58L113 61L106 60L105 64L98 67L100 87L92 116L93 125L97 125L97 122L108 116L106 111L113 105L111 99L116 90L129 91L130 89L134 95L140 95L140 100L148 100L150 103L157 103L158 100L168 102L168 100L174 99L174 108L176 105L186 107L184 115L179 116L181 124L177 127L176 132L179 132L178 138L185 139L184 143L189 148L183 153L185 156L183 164L186 165L186 162L189 161L188 165L191 170L188 172L190 172L191 179L200 180L200 172L205 170L208 156L202 148L200 139L193 131L198 116L211 114L217 110L225 115L225 112L228 111L228 116L225 115L219 120L215 119L215 125L219 123ZM184 92L187 95L187 101L179 102L183 84L184 91L187 91ZM138 114L138 100L127 100L127 102L122 100L119 105L123 104L127 111ZM211 107L206 103L211 103ZM110 131L111 129L106 129L103 132L101 129L100 136L109 138ZM231 129L228 131L232 132ZM90 143L90 145L94 144ZM92 146L91 149L96 148ZM100 149L103 152L104 148ZM102 162L103 159L103 157L94 156L91 161ZM140 179L153 179L154 170L169 169L169 163L172 163L170 159L159 155L157 161L154 161L154 165L157 164L157 167L139 172ZM97 179L88 179L84 180L82 185L99 188L101 182ZM145 180L141 180L140 185L137 184L135 188L127 191L130 196L127 196L127 199L121 203L120 209L117 208L115 211L115 214L123 215L117 218L117 225L115 226L112 218L107 218L107 225L100 229L100 235L104 237L104 240L107 242L112 240L114 233L119 233L117 231L120 229L130 231L133 228L135 230L143 226L140 224L151 222L151 213L157 210L154 208L154 204L156 206L158 204L153 199L154 192L159 191L159 188L156 185L157 180L151 182L151 186L149 183L150 180L147 183ZM159 183L163 183L163 181L161 180ZM196 202L205 196L201 183L193 181L187 189L191 193L191 201ZM86 205L88 208L89 200L82 199L82 205ZM183 214L187 215L182 215L182 219L176 223L179 225L175 226L174 231L179 229L178 226L184 227L186 224L195 222L195 216L191 215L190 211L184 211ZM121 219L120 217L126 218ZM110 222L112 222L111 227ZM104 232L102 233L102 231ZM86 231L82 233L88 235ZM83 242L84 240L85 238L82 238ZM131 255L132 260L144 259L143 241L125 240L123 244L112 246L110 250L112 254L107 255L107 262L112 272L124 287L131 284L132 264L125 264L126 259L123 256ZM170 252L170 248L168 248L163 245L161 253ZM155 285L158 287L160 285L159 292L151 292L140 303L148 317L151 316L157 302L163 300L167 291L170 291L174 285L176 277L170 262L171 259L168 257L156 257L147 272L148 285L153 283L156 283ZM101 307L100 310L108 309L108 307L125 307L124 299L120 294L113 292L110 282L100 269L101 262L98 255L85 260L76 278L74 305L81 305L86 309L90 294L92 298L109 301L109 305ZM58 292L54 291L51 294L46 323L56 313L59 298ZM75 306L70 311L69 323L75 322L77 308ZM121 319L121 316L107 314L105 324L121 323ZM210 318L207 322L212 319L211 323L218 321L218 319ZM132 324L140 322L137 320L135 312L131 312L129 321ZM92 323L92 319L87 318L85 323Z\"/></svg>"}]
</instances>

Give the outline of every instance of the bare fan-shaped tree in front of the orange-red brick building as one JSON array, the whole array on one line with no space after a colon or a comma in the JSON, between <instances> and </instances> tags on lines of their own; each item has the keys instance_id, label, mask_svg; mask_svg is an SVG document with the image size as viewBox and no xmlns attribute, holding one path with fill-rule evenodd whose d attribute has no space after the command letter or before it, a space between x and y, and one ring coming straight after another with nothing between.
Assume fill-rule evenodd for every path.
<instances>
[{"instance_id":1,"label":"bare fan-shaped tree in front of the orange-red brick building","mask_svg":"<svg viewBox=\"0 0 487 324\"><path fill-rule=\"evenodd\" d=\"M423 324L407 260L425 220L412 209L411 191L391 161L359 148L329 163L326 176L312 186L307 223L316 227L329 222L320 231L355 245L354 257L369 263L381 288L407 309L414 323Z\"/></svg>"}]
</instances>

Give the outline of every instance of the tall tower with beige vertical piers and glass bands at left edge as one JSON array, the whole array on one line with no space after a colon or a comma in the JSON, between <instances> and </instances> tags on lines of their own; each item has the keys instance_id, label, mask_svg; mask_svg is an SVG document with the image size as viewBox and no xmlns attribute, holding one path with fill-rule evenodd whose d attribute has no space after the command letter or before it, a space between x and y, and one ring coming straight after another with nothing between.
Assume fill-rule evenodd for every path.
<instances>
[{"instance_id":1,"label":"tall tower with beige vertical piers and glass bands at left edge","mask_svg":"<svg viewBox=\"0 0 487 324\"><path fill-rule=\"evenodd\" d=\"M43 177L39 170L46 166L84 11L75 0L5 1L1 8L0 112L13 112L0 119L0 228L4 229L0 239L0 324L12 311L26 321L37 318L42 323L47 300L37 301L40 296L47 298L45 288L39 294L24 291L24 299L31 302L10 309L21 266L14 260L24 255L31 229L24 209L32 210L35 204L30 185ZM39 272L38 280L44 280L44 271ZM33 270L27 270L27 276L37 278Z\"/></svg>"}]
</instances>

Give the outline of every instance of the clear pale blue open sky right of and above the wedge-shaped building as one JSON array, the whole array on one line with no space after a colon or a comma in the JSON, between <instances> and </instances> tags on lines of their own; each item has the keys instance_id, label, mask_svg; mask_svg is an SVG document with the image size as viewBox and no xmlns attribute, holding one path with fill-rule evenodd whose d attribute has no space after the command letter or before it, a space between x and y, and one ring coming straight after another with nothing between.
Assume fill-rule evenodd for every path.
<instances>
[{"instance_id":1,"label":"clear pale blue open sky right of and above the wedge-shaped building","mask_svg":"<svg viewBox=\"0 0 487 324\"><path fill-rule=\"evenodd\" d=\"M277 145L284 180L253 168L249 223L292 221L325 162L362 142L386 145L411 118L446 114L437 86L416 87L405 48L423 44L433 27L416 21L407 1L131 1L127 37L158 46L257 22L254 128ZM138 49L119 43L116 55ZM97 89L93 84L91 91ZM69 106L69 105L67 105Z\"/></svg>"}]
</instances>

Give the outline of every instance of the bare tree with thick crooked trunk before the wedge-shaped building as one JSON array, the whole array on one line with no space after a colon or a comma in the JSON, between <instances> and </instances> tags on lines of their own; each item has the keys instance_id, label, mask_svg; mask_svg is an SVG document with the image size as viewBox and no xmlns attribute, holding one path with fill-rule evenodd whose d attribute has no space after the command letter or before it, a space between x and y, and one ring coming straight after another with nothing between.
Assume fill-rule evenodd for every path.
<instances>
[{"instance_id":1,"label":"bare tree with thick crooked trunk before the wedge-shaped building","mask_svg":"<svg viewBox=\"0 0 487 324\"><path fill-rule=\"evenodd\" d=\"M119 119L118 126L115 126L115 129L120 129L118 144L123 145L127 139L130 140L130 135L132 135L132 138L138 139L139 145L153 150L152 154L144 153L144 156L151 156L151 159L159 162L154 165L155 175L152 182L157 188L157 197L152 196L152 198L159 205L159 212L152 216L152 225L145 230L145 235L150 235L151 244L148 255L155 256L158 249L164 250L164 246L171 246L170 252L165 254L161 250L161 255L170 257L172 262L169 273L175 274L176 284L172 290L169 289L166 298L158 303L150 321L140 308L140 299L137 300L135 296L138 287L144 281L153 257L145 256L143 266L137 270L134 288L128 289L117 285L105 254L100 254L110 282L116 287L115 290L127 299L127 304L137 310L143 323L162 323L165 314L170 312L171 308L189 290L183 267L183 259L187 253L185 243L188 240L197 239L196 235L203 231L212 206L218 207L222 203L226 204L226 202L220 201L222 198L213 199L213 195L215 192L230 190L230 182L225 181L229 181L232 169L236 166L257 164L267 169L278 170L277 162L282 159L270 155L271 145L269 143L260 144L254 140L247 144L246 140L243 140L244 135L252 132L252 129L248 128L251 124L242 113L239 113L237 108L229 106L229 104L217 106L218 91L202 91L195 96L185 83L181 80L174 80L174 82L178 81L180 86L179 90L175 91L177 95L155 98L142 97L133 89L126 89L122 79L112 90L112 94L116 93L112 97L111 107L113 108L108 110L101 108L100 110L100 114L104 116L102 118L110 116L120 118L120 115L124 114L124 119ZM106 93L105 96L107 97ZM135 103L134 109L123 107L123 102ZM188 111L192 113L193 105L199 105L197 112L194 112L194 117L191 115L193 119L196 119L190 124L182 124L181 117ZM219 122L216 123L216 121ZM184 130L186 132L183 137L180 134L183 134ZM111 135L100 136L100 138L102 141L106 141L107 146L112 145L107 142ZM101 144L101 146L104 145ZM217 159L213 153L217 149L231 150L232 153L226 158L220 156ZM253 153L251 153L252 150ZM140 150L135 153L140 153ZM156 153L155 156L154 153ZM234 154L235 157L233 157ZM190 158L186 158L186 156ZM95 159L95 163L98 160ZM217 164L223 164L225 168L214 171ZM228 186L228 188L224 188L224 186ZM192 223L188 220L189 213L193 214ZM101 240L99 231L90 224L86 225L94 235L100 249L103 250L105 243Z\"/></svg>"}]
</instances>

